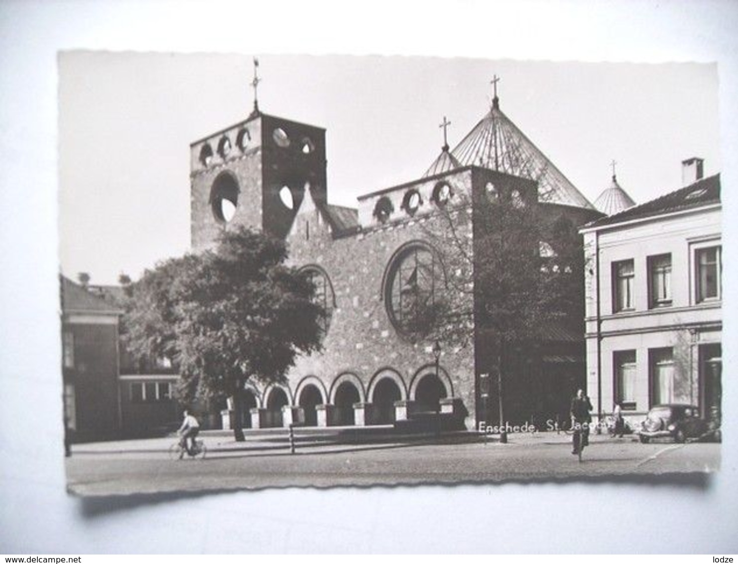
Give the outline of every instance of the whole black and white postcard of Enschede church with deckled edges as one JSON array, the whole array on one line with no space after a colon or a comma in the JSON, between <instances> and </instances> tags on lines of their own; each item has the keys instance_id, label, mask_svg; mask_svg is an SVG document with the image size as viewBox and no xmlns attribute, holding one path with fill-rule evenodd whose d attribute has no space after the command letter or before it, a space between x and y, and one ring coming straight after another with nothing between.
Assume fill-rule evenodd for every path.
<instances>
[{"instance_id":1,"label":"whole black and white postcard of Enschede church with deckled edges","mask_svg":"<svg viewBox=\"0 0 738 564\"><path fill-rule=\"evenodd\" d=\"M715 65L58 61L70 492L719 470Z\"/></svg>"}]
</instances>

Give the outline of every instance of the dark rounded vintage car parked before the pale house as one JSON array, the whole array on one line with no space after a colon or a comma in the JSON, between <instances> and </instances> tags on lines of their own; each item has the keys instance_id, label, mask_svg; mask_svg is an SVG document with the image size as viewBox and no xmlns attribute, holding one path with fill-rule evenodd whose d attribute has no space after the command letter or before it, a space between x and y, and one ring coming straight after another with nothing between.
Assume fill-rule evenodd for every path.
<instances>
[{"instance_id":1,"label":"dark rounded vintage car parked before the pale house","mask_svg":"<svg viewBox=\"0 0 738 564\"><path fill-rule=\"evenodd\" d=\"M666 404L652 407L641 423L638 435L641 443L652 438L673 438L683 443L689 438L702 439L710 435L708 422L700 417L700 409L694 405Z\"/></svg>"}]
</instances>

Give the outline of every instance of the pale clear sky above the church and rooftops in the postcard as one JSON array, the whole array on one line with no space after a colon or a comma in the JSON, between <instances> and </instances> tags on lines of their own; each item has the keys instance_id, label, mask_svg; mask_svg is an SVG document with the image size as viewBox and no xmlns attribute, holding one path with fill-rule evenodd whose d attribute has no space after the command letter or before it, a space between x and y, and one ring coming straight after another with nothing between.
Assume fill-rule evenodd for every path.
<instances>
[{"instance_id":1,"label":"pale clear sky above the church and rooftops in the postcard","mask_svg":"<svg viewBox=\"0 0 738 564\"><path fill-rule=\"evenodd\" d=\"M681 186L681 161L720 171L717 65L348 55L61 52L61 270L137 279L190 245L189 144L244 120L258 57L262 112L326 132L328 199L415 180L500 107L590 202Z\"/></svg>"}]
</instances>

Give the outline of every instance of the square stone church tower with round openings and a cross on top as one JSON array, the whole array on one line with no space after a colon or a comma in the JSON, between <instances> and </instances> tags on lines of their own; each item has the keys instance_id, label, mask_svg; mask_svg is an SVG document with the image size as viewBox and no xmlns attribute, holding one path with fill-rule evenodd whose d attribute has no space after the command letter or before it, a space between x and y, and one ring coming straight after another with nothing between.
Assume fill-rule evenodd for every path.
<instances>
[{"instance_id":1,"label":"square stone church tower with round openings and a cross on top","mask_svg":"<svg viewBox=\"0 0 738 564\"><path fill-rule=\"evenodd\" d=\"M190 144L190 244L213 245L224 229L246 225L285 237L310 190L325 203L325 129L254 109L241 123Z\"/></svg>"}]
</instances>

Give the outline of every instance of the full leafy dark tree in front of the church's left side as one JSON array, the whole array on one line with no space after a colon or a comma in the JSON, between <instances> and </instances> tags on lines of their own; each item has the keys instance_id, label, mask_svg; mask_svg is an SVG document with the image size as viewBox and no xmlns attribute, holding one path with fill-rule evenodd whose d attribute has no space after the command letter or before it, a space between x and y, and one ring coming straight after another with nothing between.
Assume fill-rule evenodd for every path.
<instances>
[{"instance_id":1,"label":"full leafy dark tree in front of the church's left side","mask_svg":"<svg viewBox=\"0 0 738 564\"><path fill-rule=\"evenodd\" d=\"M311 281L286 267L286 258L282 241L241 228L224 231L215 251L146 271L131 285L128 347L172 359L185 402L232 396L241 421L249 378L282 382L299 353L320 350L325 312Z\"/></svg>"}]
</instances>

